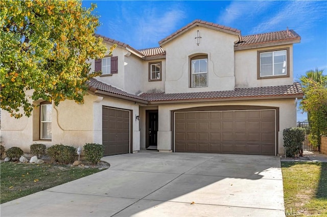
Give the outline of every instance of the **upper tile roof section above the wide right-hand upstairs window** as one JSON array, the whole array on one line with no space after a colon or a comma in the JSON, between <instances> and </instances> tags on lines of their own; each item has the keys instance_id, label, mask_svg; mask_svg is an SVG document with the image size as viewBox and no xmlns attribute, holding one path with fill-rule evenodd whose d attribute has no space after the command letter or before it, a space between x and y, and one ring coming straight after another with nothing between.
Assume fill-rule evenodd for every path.
<instances>
[{"instance_id":1,"label":"upper tile roof section above the wide right-hand upstairs window","mask_svg":"<svg viewBox=\"0 0 327 217\"><path fill-rule=\"evenodd\" d=\"M277 42L277 41L291 41L300 38L301 37L296 32L287 29L285 31L279 31L279 32L242 36L242 41L235 44L235 46L261 44L261 43Z\"/></svg>"}]
</instances>

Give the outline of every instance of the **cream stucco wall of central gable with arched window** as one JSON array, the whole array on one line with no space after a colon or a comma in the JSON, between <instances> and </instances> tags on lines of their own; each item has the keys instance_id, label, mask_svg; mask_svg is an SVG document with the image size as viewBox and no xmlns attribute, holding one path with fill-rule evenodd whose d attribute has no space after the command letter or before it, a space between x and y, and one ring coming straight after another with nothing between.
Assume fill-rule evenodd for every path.
<instances>
[{"instance_id":1,"label":"cream stucco wall of central gable with arched window","mask_svg":"<svg viewBox=\"0 0 327 217\"><path fill-rule=\"evenodd\" d=\"M195 37L200 32L200 44ZM166 93L190 93L233 90L234 42L238 36L197 26L162 46L166 56ZM190 87L190 56L205 53L208 56L208 87Z\"/></svg>"}]
</instances>

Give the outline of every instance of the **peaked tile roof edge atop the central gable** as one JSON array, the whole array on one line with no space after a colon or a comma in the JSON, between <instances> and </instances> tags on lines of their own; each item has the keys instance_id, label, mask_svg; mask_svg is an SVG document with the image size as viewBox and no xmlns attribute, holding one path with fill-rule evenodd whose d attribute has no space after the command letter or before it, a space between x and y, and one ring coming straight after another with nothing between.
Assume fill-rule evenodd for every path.
<instances>
[{"instance_id":1,"label":"peaked tile roof edge atop the central gable","mask_svg":"<svg viewBox=\"0 0 327 217\"><path fill-rule=\"evenodd\" d=\"M188 29L190 29L190 28L192 28L193 26L196 26L196 25L206 26L208 28L217 29L217 30L221 30L221 31L224 31L224 32L229 32L229 33L234 33L234 34L237 34L237 35L241 34L240 30L237 30L237 29L234 29L234 28L230 28L230 27L225 26L225 25L219 25L219 24L216 24L216 23L213 23L213 22L207 22L207 21L203 21L203 20L200 20L200 19L196 19L193 22L183 26L181 29L177 30L175 33L171 34L170 36L160 40L159 44L161 45L163 43L166 43L170 39L176 37L180 33L185 32L186 30L188 30Z\"/></svg>"}]
</instances>

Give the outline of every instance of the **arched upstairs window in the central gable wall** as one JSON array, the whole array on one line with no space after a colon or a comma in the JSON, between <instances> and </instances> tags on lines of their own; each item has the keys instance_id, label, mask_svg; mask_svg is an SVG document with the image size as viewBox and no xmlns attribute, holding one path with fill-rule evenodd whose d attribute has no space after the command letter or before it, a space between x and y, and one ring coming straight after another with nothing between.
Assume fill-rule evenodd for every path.
<instances>
[{"instance_id":1,"label":"arched upstairs window in the central gable wall","mask_svg":"<svg viewBox=\"0 0 327 217\"><path fill-rule=\"evenodd\" d=\"M208 86L208 56L200 55L191 58L191 87Z\"/></svg>"}]
</instances>

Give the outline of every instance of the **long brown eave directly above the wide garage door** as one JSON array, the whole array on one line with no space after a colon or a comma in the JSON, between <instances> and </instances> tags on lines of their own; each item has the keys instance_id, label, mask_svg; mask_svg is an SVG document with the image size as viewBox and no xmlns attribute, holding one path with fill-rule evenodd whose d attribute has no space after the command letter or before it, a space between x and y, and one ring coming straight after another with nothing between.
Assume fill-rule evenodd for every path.
<instances>
[{"instance_id":1,"label":"long brown eave directly above the wide garage door","mask_svg":"<svg viewBox=\"0 0 327 217\"><path fill-rule=\"evenodd\" d=\"M182 104L182 103L204 103L204 102L231 102L231 101L254 101L254 100L282 100L282 99L302 99L303 94L279 95L279 96L256 96L256 97L233 97L233 98L215 98L215 99L186 99L186 100L167 100L167 101L149 101L149 105L158 104Z\"/></svg>"}]
</instances>

